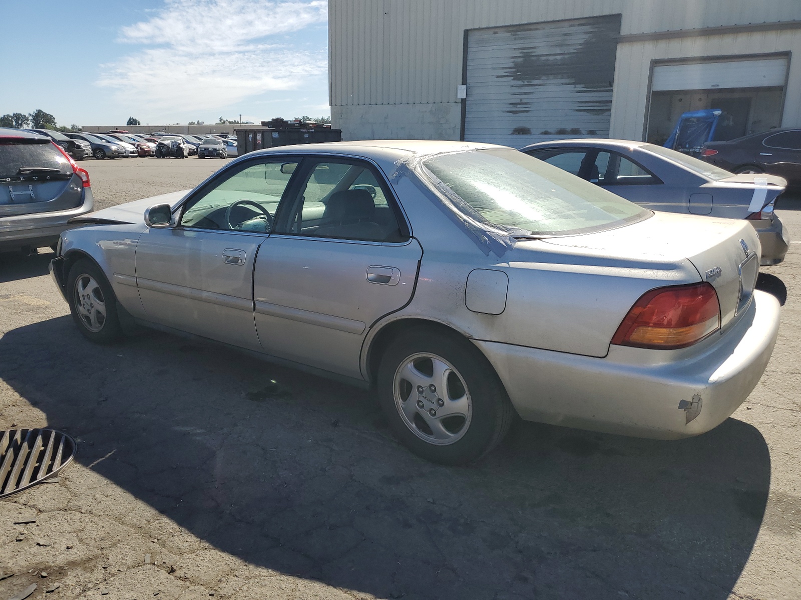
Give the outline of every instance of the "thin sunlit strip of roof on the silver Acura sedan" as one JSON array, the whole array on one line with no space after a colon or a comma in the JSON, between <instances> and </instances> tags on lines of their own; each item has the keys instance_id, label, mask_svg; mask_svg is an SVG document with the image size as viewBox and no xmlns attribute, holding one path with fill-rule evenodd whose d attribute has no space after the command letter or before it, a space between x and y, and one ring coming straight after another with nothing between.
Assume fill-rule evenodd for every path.
<instances>
[{"instance_id":1,"label":"thin sunlit strip of roof on the silver Acura sedan","mask_svg":"<svg viewBox=\"0 0 801 600\"><path fill-rule=\"evenodd\" d=\"M394 151L396 154L441 154L465 150L509 149L509 146L481 144L477 142L450 142L443 140L361 140L358 142L320 142L316 144L298 144L296 146L275 146L257 150L253 154L280 154L282 152L303 152L304 154L384 154L381 150Z\"/></svg>"}]
</instances>

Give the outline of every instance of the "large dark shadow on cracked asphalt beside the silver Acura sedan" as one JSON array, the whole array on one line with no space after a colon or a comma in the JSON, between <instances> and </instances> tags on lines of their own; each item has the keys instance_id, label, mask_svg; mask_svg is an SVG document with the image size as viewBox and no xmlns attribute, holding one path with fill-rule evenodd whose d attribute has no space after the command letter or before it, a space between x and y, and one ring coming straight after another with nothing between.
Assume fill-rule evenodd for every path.
<instances>
[{"instance_id":1,"label":"large dark shadow on cracked asphalt beside the silver Acura sedan","mask_svg":"<svg viewBox=\"0 0 801 600\"><path fill-rule=\"evenodd\" d=\"M368 391L166 334L94 346L69 317L5 334L0 377L199 538L380 598L723 600L770 483L732 418L676 442L519 422L479 464L437 466Z\"/></svg>"}]
</instances>

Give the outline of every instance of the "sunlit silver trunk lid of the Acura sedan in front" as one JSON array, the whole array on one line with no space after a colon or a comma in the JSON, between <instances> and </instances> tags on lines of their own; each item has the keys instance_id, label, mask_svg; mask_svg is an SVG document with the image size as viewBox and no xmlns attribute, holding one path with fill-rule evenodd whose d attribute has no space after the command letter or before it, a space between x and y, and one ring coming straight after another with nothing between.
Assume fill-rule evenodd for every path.
<instances>
[{"instance_id":1,"label":"sunlit silver trunk lid of the Acura sedan in front","mask_svg":"<svg viewBox=\"0 0 801 600\"><path fill-rule=\"evenodd\" d=\"M698 280L710 282L718 293L723 330L747 306L759 272L759 238L743 220L657 212L615 230L544 241L616 261L686 258L698 270Z\"/></svg>"}]
</instances>

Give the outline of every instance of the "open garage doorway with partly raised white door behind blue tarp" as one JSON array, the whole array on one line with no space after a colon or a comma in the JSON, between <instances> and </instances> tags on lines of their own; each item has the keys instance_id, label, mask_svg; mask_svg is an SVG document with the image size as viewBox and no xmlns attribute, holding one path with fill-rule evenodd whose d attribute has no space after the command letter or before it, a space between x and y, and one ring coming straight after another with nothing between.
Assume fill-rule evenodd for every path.
<instances>
[{"instance_id":1,"label":"open garage doorway with partly raised white door behind blue tarp","mask_svg":"<svg viewBox=\"0 0 801 600\"><path fill-rule=\"evenodd\" d=\"M787 55L771 55L654 64L646 141L662 146L690 110L723 110L716 141L780 127L788 62Z\"/></svg>"}]
</instances>

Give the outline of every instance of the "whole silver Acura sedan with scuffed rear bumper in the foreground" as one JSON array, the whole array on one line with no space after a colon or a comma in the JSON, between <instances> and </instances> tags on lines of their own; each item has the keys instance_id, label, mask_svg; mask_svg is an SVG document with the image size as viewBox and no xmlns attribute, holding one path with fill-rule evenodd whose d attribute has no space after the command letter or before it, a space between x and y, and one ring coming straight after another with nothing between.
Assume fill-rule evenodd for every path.
<instances>
[{"instance_id":1,"label":"whole silver Acura sedan with scuffed rear bumper in the foreground","mask_svg":"<svg viewBox=\"0 0 801 600\"><path fill-rule=\"evenodd\" d=\"M137 322L373 386L396 436L446 464L516 414L701 434L779 328L748 222L647 210L503 146L260 150L77 221L51 271L90 340Z\"/></svg>"}]
</instances>

